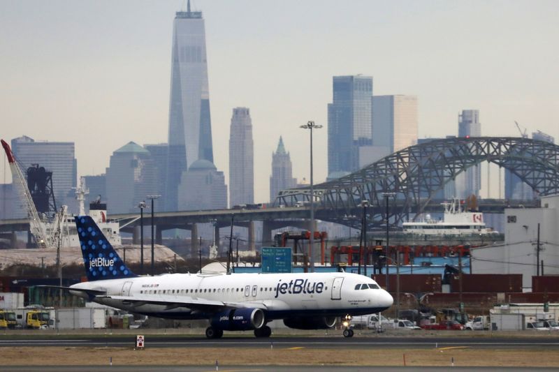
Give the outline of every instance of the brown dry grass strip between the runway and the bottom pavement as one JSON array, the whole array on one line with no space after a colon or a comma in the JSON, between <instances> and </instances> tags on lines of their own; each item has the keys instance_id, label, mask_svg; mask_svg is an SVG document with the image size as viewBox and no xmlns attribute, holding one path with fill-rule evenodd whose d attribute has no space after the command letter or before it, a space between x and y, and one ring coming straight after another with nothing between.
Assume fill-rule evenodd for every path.
<instances>
[{"instance_id":1,"label":"brown dry grass strip between the runway and the bottom pavement","mask_svg":"<svg viewBox=\"0 0 559 372\"><path fill-rule=\"evenodd\" d=\"M558 367L556 350L313 348L1 348L4 366L130 365L351 365L351 366L516 366Z\"/></svg>"}]
</instances>

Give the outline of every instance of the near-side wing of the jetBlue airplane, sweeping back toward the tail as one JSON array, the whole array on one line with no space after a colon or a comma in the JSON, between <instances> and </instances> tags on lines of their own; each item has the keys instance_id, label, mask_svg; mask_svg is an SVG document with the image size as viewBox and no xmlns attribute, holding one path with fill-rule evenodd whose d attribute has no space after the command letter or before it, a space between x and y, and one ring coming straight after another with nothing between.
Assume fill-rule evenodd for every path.
<instances>
[{"instance_id":1,"label":"near-side wing of the jetBlue airplane, sweeping back toward the tail","mask_svg":"<svg viewBox=\"0 0 559 372\"><path fill-rule=\"evenodd\" d=\"M129 302L134 307L142 305L164 305L166 310L173 308L191 308L200 311L221 311L225 308L261 308L268 310L268 307L261 302L222 302L212 301L208 299L193 298L193 297L155 297L155 296L112 296L112 295L99 295L96 298L115 299L122 302Z\"/></svg>"}]
</instances>

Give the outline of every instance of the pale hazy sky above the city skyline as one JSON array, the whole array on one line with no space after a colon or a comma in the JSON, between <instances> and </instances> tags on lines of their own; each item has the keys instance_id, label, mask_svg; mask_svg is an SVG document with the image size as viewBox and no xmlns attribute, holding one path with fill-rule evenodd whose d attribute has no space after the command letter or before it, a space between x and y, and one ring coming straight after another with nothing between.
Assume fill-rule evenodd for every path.
<instances>
[{"instance_id":1,"label":"pale hazy sky above the city skyline","mask_svg":"<svg viewBox=\"0 0 559 372\"><path fill-rule=\"evenodd\" d=\"M129 141L167 142L171 36L186 1L0 0L0 137L74 141L78 174L105 172ZM256 202L268 201L284 137L293 175L327 172L333 75L373 76L373 94L418 97L419 137L483 135L514 121L559 140L559 1L196 0L208 49L215 164L228 180L233 107L249 107ZM10 181L2 167L3 181ZM8 174L6 174L6 172ZM228 181L227 181L228 182Z\"/></svg>"}]
</instances>

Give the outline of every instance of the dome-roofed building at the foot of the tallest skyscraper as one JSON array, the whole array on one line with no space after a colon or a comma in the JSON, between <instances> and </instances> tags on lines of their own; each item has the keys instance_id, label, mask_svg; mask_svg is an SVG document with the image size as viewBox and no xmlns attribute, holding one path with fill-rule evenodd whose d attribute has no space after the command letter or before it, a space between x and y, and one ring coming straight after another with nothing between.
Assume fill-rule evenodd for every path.
<instances>
[{"instance_id":1,"label":"dome-roofed building at the foot of the tallest skyscraper","mask_svg":"<svg viewBox=\"0 0 559 372\"><path fill-rule=\"evenodd\" d=\"M225 175L207 160L198 160L182 174L178 207L181 211L227 208Z\"/></svg>"}]
</instances>

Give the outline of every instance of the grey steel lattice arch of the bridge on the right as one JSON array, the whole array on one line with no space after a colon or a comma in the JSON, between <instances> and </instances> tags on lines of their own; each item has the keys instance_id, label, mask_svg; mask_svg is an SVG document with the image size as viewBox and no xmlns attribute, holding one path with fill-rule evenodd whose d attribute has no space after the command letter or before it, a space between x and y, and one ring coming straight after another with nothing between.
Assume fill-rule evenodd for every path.
<instances>
[{"instance_id":1,"label":"grey steel lattice arch of the bridge on the right","mask_svg":"<svg viewBox=\"0 0 559 372\"><path fill-rule=\"evenodd\" d=\"M367 200L369 228L384 225L386 214L392 225L400 225L410 214L423 213L437 191L458 174L484 161L510 170L541 196L559 193L556 144L521 137L451 138L407 147L357 172L315 185L316 216L358 227L361 221L356 216L363 214L361 202ZM384 193L393 193L388 212ZM310 186L288 189L279 193L275 204L307 204L310 196Z\"/></svg>"}]
</instances>

